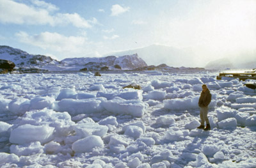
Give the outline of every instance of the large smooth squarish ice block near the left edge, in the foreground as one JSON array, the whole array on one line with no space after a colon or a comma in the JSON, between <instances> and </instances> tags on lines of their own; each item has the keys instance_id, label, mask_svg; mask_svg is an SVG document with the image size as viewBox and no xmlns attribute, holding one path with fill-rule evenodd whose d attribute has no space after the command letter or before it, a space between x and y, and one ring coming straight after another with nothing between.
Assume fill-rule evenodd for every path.
<instances>
[{"instance_id":1,"label":"large smooth squarish ice block near the left edge, in the foreground","mask_svg":"<svg viewBox=\"0 0 256 168\"><path fill-rule=\"evenodd\" d=\"M21 125L12 130L10 142L12 144L26 144L35 141L49 142L53 139L53 131L54 128L48 125Z\"/></svg>"}]
</instances>

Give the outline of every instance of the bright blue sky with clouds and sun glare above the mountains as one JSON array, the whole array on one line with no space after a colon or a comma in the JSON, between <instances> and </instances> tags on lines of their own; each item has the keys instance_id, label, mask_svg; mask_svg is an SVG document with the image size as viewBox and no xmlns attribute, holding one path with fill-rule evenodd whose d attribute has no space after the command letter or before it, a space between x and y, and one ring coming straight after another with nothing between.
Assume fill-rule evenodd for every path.
<instances>
[{"instance_id":1,"label":"bright blue sky with clouds and sun glare above the mountains","mask_svg":"<svg viewBox=\"0 0 256 168\"><path fill-rule=\"evenodd\" d=\"M0 45L30 54L61 60L154 43L209 59L255 53L256 1L0 0Z\"/></svg>"}]
</instances>

